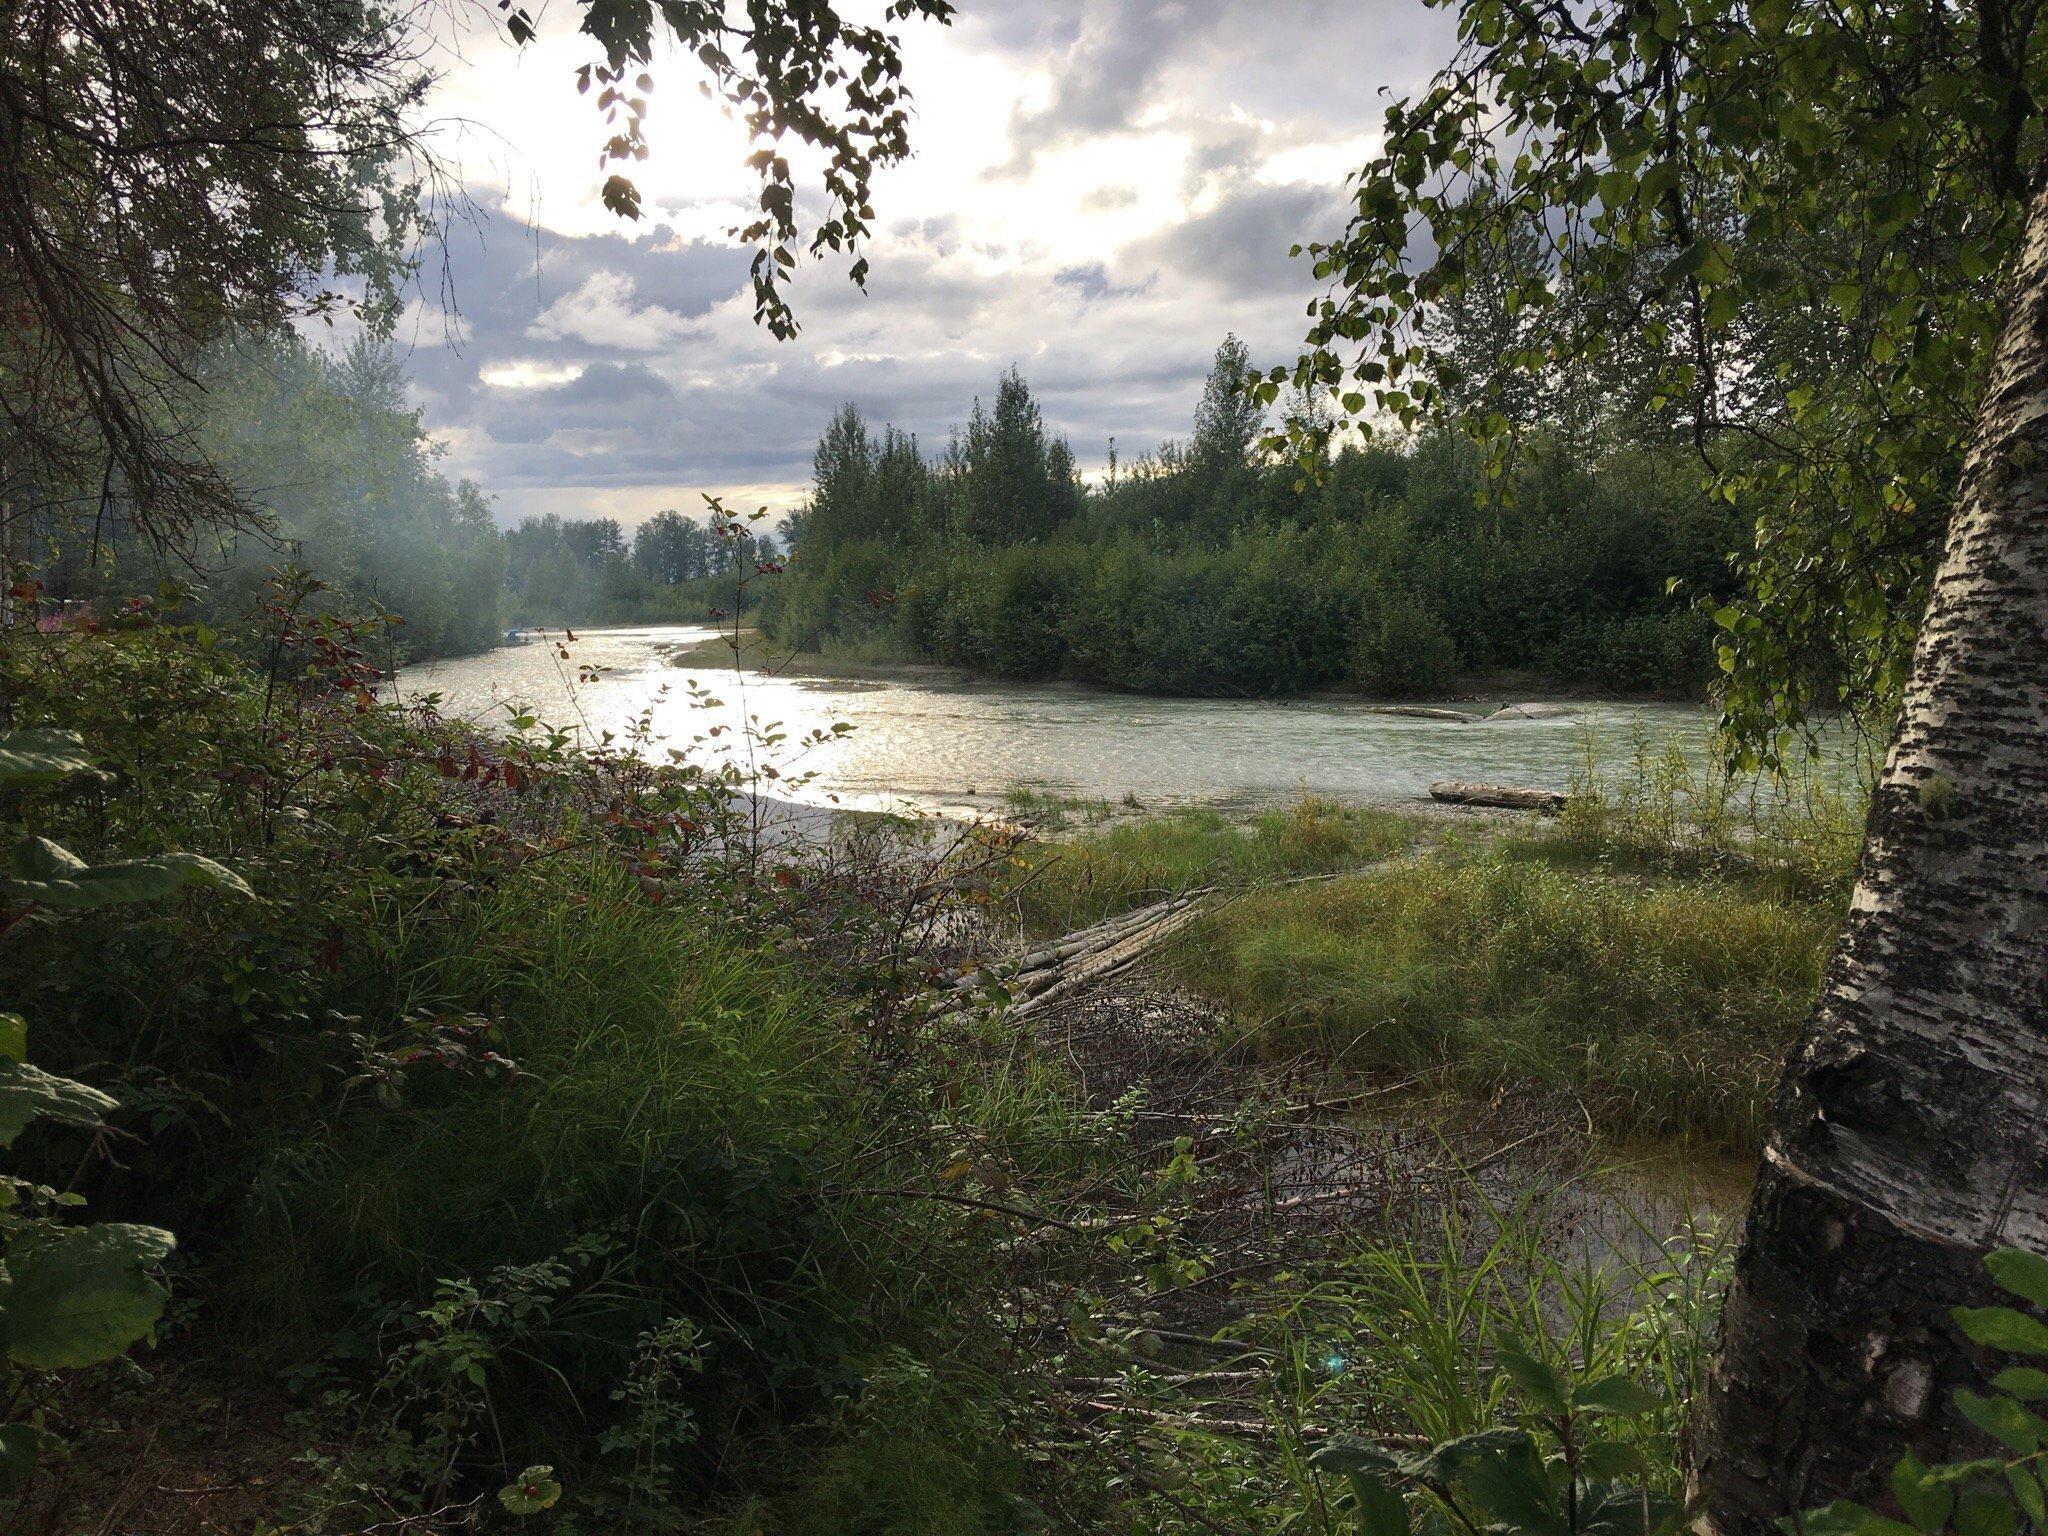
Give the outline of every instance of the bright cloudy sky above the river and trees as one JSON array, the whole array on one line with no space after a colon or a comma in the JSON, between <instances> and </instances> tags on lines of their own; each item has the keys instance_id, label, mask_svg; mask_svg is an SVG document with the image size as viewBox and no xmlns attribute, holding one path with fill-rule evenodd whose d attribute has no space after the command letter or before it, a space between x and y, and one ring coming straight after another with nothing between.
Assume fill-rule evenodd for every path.
<instances>
[{"instance_id":1,"label":"bright cloudy sky above the river and trees","mask_svg":"<svg viewBox=\"0 0 2048 1536\"><path fill-rule=\"evenodd\" d=\"M965 0L911 27L915 158L874 188L862 295L807 264L803 334L754 326L743 133L664 59L637 180L645 217L596 197L596 57L578 6L541 39L449 45L436 143L473 213L446 291L401 330L418 401L514 522L537 512L784 510L811 444L858 401L938 451L1012 362L1085 469L1184 436L1225 332L1290 358L1313 291L1296 240L1341 227L1384 90L1448 55L1421 0Z\"/></svg>"}]
</instances>

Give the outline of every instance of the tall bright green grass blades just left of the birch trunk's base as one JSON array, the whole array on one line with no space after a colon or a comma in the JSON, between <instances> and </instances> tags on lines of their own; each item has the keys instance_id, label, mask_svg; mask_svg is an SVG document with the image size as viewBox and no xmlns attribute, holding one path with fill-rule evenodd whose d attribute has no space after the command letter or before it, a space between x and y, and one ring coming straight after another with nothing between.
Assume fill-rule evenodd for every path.
<instances>
[{"instance_id":1,"label":"tall bright green grass blades just left of the birch trunk's base","mask_svg":"<svg viewBox=\"0 0 2048 1536\"><path fill-rule=\"evenodd\" d=\"M1368 1526L1348 1507L1343 1479L1317 1466L1319 1448L1362 1440L1415 1452L1489 1430L1546 1432L1544 1409L1497 1364L1501 1348L1567 1382L1624 1376L1647 1389L1657 1405L1606 1432L1634 1452L1642 1487L1675 1495L1731 1255L1704 1223L1665 1241L1642 1233L1628 1253L1571 1249L1542 1200L1501 1208L1460 1188L1227 1329L1270 1366L1255 1395L1264 1434L1153 1432L1178 1491L1149 1513L1174 1532L1354 1536ZM1171 1395L1155 1401L1167 1425L1188 1411ZM1440 1522L1423 1530L1464 1528L1434 1513Z\"/></svg>"}]
</instances>

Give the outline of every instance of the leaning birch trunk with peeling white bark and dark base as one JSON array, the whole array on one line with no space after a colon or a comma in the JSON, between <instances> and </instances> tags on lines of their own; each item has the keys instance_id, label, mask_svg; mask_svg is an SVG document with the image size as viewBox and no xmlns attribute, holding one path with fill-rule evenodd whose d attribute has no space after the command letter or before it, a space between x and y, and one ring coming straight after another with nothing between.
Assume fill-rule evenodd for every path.
<instances>
[{"instance_id":1,"label":"leaning birch trunk with peeling white bark and dark base","mask_svg":"<svg viewBox=\"0 0 2048 1536\"><path fill-rule=\"evenodd\" d=\"M1710 1536L1989 1442L1948 1309L2048 1249L2048 197L2032 213L1849 920L1786 1065L1696 1442Z\"/></svg>"}]
</instances>

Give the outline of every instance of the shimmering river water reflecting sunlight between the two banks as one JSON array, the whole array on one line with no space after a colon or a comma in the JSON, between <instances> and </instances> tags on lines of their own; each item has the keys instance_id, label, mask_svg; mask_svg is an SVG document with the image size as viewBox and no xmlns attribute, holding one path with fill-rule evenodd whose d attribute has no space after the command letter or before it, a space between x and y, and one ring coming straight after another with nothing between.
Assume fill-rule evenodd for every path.
<instances>
[{"instance_id":1,"label":"shimmering river water reflecting sunlight between the two banks","mask_svg":"<svg viewBox=\"0 0 2048 1536\"><path fill-rule=\"evenodd\" d=\"M553 643L512 645L406 668L397 686L406 696L440 694L444 715L483 727L504 725L512 702L586 739L625 737L645 717L655 754L741 762L752 754L778 768L778 793L850 809L985 811L1012 786L1147 809L1239 809L1300 793L1399 803L1427 797L1436 778L1567 788L1589 760L1622 768L1645 737L1706 750L1708 713L1688 705L1587 700L1538 719L1466 725L1374 713L1348 698L1145 698L1061 684L676 666L678 651L711 637L688 625L578 631L569 659ZM715 702L694 698L692 682ZM1483 715L1499 702L1511 700L1450 707ZM748 719L788 741L750 745L739 729ZM797 752L803 735L834 725L852 729Z\"/></svg>"}]
</instances>

